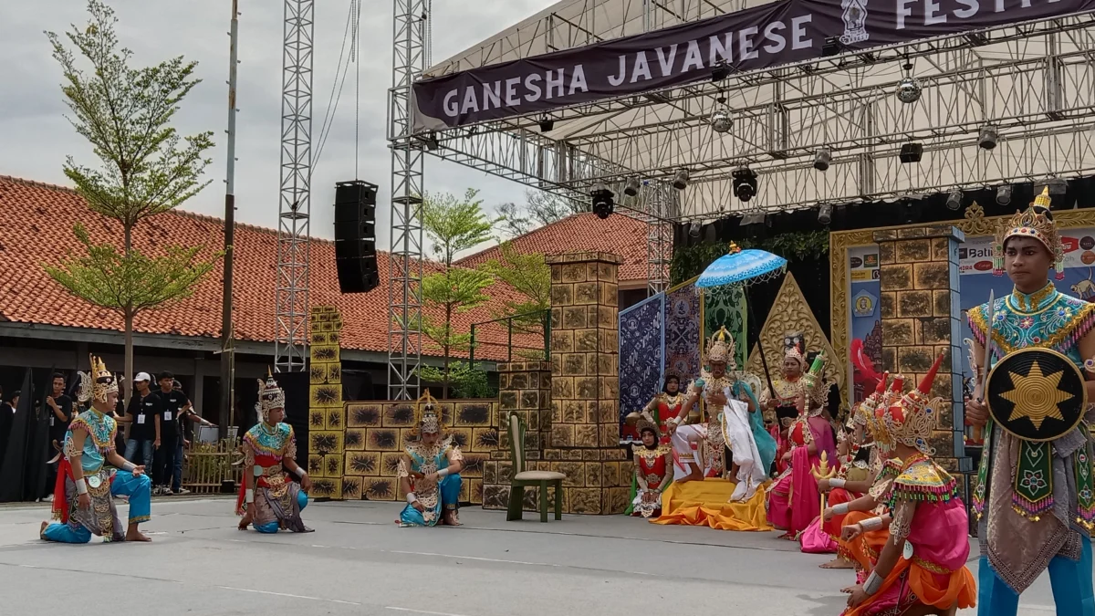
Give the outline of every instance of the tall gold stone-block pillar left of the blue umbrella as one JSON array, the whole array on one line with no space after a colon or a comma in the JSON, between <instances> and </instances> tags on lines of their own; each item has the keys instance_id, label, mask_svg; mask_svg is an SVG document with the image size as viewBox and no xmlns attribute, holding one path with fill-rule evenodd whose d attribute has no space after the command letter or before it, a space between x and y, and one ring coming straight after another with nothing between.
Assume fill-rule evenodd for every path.
<instances>
[{"instance_id":1,"label":"tall gold stone-block pillar left of the blue umbrella","mask_svg":"<svg viewBox=\"0 0 1095 616\"><path fill-rule=\"evenodd\" d=\"M566 475L563 510L616 514L627 506L630 452L620 446L619 255L548 256L551 266L549 470Z\"/></svg>"}]
</instances>

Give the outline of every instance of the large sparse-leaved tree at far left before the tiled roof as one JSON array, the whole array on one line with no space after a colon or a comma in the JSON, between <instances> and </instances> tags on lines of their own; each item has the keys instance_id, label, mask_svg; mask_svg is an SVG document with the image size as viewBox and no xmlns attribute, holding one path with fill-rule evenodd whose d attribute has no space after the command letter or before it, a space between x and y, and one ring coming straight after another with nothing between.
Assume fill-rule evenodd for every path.
<instances>
[{"instance_id":1,"label":"large sparse-leaved tree at far left before the tiled roof","mask_svg":"<svg viewBox=\"0 0 1095 616\"><path fill-rule=\"evenodd\" d=\"M88 249L47 267L73 295L115 310L125 321L126 376L132 377L134 319L142 310L162 307L189 295L212 264L195 262L201 247L169 248L165 258L149 258L132 247L132 231L143 218L181 205L208 182L201 182L212 133L181 137L171 126L178 105L200 83L193 77L197 62L182 56L155 66L131 68L132 52L118 46L117 19L100 0L89 0L87 27L72 25L69 43L90 65L84 71L61 38L46 32L54 59L61 66L68 121L91 142L101 166L79 166L69 156L65 174L93 212L122 224L122 254L110 244L95 244L87 230L76 229ZM110 251L107 250L110 249ZM118 281L106 280L118 276ZM162 287L148 289L145 287ZM126 388L128 398L132 388Z\"/></svg>"}]
</instances>

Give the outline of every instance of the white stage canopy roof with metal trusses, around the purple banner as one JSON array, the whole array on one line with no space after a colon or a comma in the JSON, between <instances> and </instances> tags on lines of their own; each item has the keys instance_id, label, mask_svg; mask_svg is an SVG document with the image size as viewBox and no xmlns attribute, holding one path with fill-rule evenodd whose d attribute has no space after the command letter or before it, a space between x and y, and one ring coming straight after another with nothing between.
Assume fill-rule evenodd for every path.
<instances>
[{"instance_id":1,"label":"white stage canopy roof with metal trusses, around the purple banner","mask_svg":"<svg viewBox=\"0 0 1095 616\"><path fill-rule=\"evenodd\" d=\"M430 77L526 58L764 4L759 0L563 0L430 67ZM948 35L869 53L845 53L712 83L630 95L543 114L483 122L429 135L429 153L526 185L588 201L629 176L666 185L680 169L690 184L665 218L711 220L746 213L902 198L1095 172L1095 18L1069 15ZM923 94L895 92L913 65ZM716 99L733 114L711 129ZM982 128L998 135L979 147ZM898 152L923 146L918 163ZM827 171L814 168L831 152ZM757 172L742 203L730 173ZM672 191L670 191L672 192ZM675 197L675 199L678 197ZM656 226L664 204L641 198L652 240L650 289L660 288ZM676 201L675 201L676 203Z\"/></svg>"}]
</instances>

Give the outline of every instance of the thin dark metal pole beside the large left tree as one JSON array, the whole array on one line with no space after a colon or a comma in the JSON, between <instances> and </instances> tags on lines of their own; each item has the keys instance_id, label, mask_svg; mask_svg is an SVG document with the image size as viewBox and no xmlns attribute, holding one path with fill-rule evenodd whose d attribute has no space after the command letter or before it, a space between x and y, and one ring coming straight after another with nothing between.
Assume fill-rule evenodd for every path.
<instances>
[{"instance_id":1,"label":"thin dark metal pole beside the large left tree","mask_svg":"<svg viewBox=\"0 0 1095 616\"><path fill-rule=\"evenodd\" d=\"M235 400L235 342L232 329L232 249L235 243L235 67L239 64L240 5L232 0L232 27L228 53L228 164L224 175L224 288L220 313L220 419L221 435L232 425Z\"/></svg>"}]
</instances>

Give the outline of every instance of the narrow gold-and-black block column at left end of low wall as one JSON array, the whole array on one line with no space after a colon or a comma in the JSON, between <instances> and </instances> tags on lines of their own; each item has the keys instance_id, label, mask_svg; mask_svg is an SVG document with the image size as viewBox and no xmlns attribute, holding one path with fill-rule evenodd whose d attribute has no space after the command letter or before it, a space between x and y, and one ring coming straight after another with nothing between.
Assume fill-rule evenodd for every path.
<instances>
[{"instance_id":1,"label":"narrow gold-and-black block column at left end of low wall","mask_svg":"<svg viewBox=\"0 0 1095 616\"><path fill-rule=\"evenodd\" d=\"M343 408L342 315L334 306L315 306L309 319L308 475L311 495L343 499L343 447L346 411ZM356 487L359 490L360 487ZM356 495L356 494L355 494Z\"/></svg>"}]
</instances>

